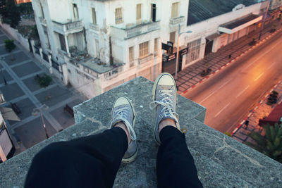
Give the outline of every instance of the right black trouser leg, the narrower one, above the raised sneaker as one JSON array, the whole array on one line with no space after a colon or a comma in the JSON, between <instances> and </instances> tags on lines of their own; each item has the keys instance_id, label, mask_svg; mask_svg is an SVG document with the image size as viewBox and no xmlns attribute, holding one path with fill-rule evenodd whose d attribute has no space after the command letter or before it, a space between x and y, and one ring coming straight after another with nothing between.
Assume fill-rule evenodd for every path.
<instances>
[{"instance_id":1,"label":"right black trouser leg, the narrower one, above the raised sneaker","mask_svg":"<svg viewBox=\"0 0 282 188\"><path fill-rule=\"evenodd\" d=\"M158 187L202 187L185 135L175 127L160 132L161 146L157 155Z\"/></svg>"}]
</instances>

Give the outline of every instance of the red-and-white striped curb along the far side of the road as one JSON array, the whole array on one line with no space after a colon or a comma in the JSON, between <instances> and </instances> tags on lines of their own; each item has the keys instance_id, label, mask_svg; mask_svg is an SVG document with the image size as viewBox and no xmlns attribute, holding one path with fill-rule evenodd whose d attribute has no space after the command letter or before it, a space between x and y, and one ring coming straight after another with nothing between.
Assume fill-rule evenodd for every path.
<instances>
[{"instance_id":1,"label":"red-and-white striped curb along the far side of the road","mask_svg":"<svg viewBox=\"0 0 282 188\"><path fill-rule=\"evenodd\" d=\"M245 51L243 54L240 54L239 56L233 58L231 61L229 61L228 63L226 63L225 65L223 65L221 68L219 68L218 70L214 71L212 73L212 75L208 75L206 77L204 77L202 80L200 80L200 82L197 82L197 84L194 84L192 87L186 89L184 92L180 93L180 95L186 94L188 91L190 91L191 89L195 88L198 84L201 84L202 82L204 82L204 80L209 79L209 77L212 77L213 75L215 75L216 73L219 73L219 70L222 70L223 68L226 68L228 65L230 65L231 63L233 63L234 61L238 60L240 57L244 56L245 54L247 54L248 52L250 52L251 50L255 49L255 47L259 46L260 44L266 42L266 39L269 39L271 37L273 37L274 35L277 34L277 32L281 32L282 27L279 30L276 30L276 32L273 32L271 35L267 36L266 38L264 38L263 40L261 40L259 43L255 44L255 46L250 47L250 49L247 49L247 51Z\"/></svg>"}]
</instances>

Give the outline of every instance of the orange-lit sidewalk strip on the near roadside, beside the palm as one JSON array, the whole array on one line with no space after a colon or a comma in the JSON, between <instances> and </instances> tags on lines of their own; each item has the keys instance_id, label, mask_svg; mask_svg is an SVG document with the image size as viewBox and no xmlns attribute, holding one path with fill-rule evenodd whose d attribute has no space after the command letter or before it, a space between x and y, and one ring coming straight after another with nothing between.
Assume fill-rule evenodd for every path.
<instances>
[{"instance_id":1,"label":"orange-lit sidewalk strip on the near roadside, beside the palm","mask_svg":"<svg viewBox=\"0 0 282 188\"><path fill-rule=\"evenodd\" d=\"M278 84L276 84L274 89L271 89L269 94L272 92L272 90L275 90L279 93L277 102L278 104L279 101L281 102L282 100L282 80L280 80ZM266 104L269 94L267 94L264 99L259 101L257 106L252 111L250 111L249 115L247 115L247 117L245 118L245 120L249 120L249 125L247 126L247 128L244 124L245 120L243 120L242 123L240 123L240 125L238 125L238 127L232 132L233 139L236 139L239 142L251 142L252 139L249 137L250 132L262 132L262 127L258 125L259 119L267 117L269 113L271 113L271 111L277 106L277 104L271 106Z\"/></svg>"}]
</instances>

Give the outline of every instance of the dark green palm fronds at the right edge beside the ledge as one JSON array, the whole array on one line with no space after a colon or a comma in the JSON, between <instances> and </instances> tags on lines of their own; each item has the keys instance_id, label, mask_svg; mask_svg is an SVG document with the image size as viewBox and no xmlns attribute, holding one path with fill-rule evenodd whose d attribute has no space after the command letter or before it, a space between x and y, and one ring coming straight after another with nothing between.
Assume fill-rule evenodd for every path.
<instances>
[{"instance_id":1,"label":"dark green palm fronds at the right edge beside the ledge","mask_svg":"<svg viewBox=\"0 0 282 188\"><path fill-rule=\"evenodd\" d=\"M282 163L282 124L264 125L263 128L265 136L258 132L251 132L249 135L256 144L251 142L245 142L245 144Z\"/></svg>"}]
</instances>

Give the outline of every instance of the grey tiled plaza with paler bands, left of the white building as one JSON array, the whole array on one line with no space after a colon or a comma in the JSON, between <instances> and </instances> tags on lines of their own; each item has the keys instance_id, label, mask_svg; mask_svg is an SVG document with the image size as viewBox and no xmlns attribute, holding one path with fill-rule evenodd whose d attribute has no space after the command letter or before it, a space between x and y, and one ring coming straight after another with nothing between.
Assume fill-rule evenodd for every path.
<instances>
[{"instance_id":1,"label":"grey tiled plaza with paler bands, left of the white building","mask_svg":"<svg viewBox=\"0 0 282 188\"><path fill-rule=\"evenodd\" d=\"M0 61L0 90L7 101L2 106L11 107L10 104L13 102L22 111L18 115L20 122L11 120L7 122L16 144L16 153L20 153L46 139L40 116L32 115L34 108L43 104L49 106L48 110L44 111L44 121L51 136L75 123L74 118L63 111L63 107L66 104L71 107L80 104L85 101L85 97L64 87L56 78L49 87L40 88L35 76L48 71L17 42L17 47L12 52L13 58L16 59L11 61L11 54L4 48L4 39L8 38L11 37L0 29L0 58L3 59ZM4 84L4 78L8 84ZM47 95L51 98L47 98Z\"/></svg>"}]
</instances>

